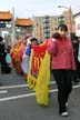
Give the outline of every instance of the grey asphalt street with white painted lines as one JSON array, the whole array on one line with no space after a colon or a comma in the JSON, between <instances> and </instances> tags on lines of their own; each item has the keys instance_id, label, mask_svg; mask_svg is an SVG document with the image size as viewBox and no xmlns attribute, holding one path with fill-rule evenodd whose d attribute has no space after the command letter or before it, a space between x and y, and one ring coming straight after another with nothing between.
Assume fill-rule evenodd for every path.
<instances>
[{"instance_id":1,"label":"grey asphalt street with white painted lines","mask_svg":"<svg viewBox=\"0 0 80 120\"><path fill-rule=\"evenodd\" d=\"M50 81L51 96L48 107L37 103L34 91L30 90L24 78L14 71L0 74L0 120L64 120L58 112L54 81ZM67 120L80 120L80 84L73 84L68 111L70 116Z\"/></svg>"}]
</instances>

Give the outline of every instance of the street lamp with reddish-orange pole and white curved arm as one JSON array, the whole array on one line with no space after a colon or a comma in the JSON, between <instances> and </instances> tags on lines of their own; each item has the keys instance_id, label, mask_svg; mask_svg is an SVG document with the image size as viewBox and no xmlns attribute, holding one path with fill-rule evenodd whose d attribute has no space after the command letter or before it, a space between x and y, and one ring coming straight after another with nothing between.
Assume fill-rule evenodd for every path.
<instances>
[{"instance_id":1,"label":"street lamp with reddish-orange pole and white curved arm","mask_svg":"<svg viewBox=\"0 0 80 120\"><path fill-rule=\"evenodd\" d=\"M68 10L68 14L69 14L69 30L70 30L70 34L72 33L72 19L71 19L71 7L68 8L66 6L58 6L58 8L64 8Z\"/></svg>"}]
</instances>

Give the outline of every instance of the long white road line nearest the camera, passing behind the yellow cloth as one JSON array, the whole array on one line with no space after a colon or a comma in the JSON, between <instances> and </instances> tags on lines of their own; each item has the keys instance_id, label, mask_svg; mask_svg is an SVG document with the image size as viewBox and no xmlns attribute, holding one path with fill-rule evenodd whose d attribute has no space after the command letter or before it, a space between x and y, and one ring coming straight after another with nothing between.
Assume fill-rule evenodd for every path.
<instances>
[{"instance_id":1,"label":"long white road line nearest the camera, passing behind the yellow cloth","mask_svg":"<svg viewBox=\"0 0 80 120\"><path fill-rule=\"evenodd\" d=\"M80 88L80 84L73 86L73 88L74 89ZM58 89L50 90L51 93L57 92L57 91L58 91ZM34 92L28 93L28 94L20 94L20 96L14 96L14 97L1 98L0 101L16 100L16 99L19 99L19 98L33 97L33 96L36 96Z\"/></svg>"}]
</instances>

